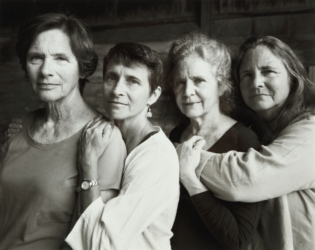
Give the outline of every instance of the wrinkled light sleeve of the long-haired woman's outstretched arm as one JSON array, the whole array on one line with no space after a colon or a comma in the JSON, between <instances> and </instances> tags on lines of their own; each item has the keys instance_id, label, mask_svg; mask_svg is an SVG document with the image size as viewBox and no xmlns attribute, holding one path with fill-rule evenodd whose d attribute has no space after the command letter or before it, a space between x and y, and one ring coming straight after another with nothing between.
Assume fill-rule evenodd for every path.
<instances>
[{"instance_id":1,"label":"wrinkled light sleeve of the long-haired woman's outstretched arm","mask_svg":"<svg viewBox=\"0 0 315 250\"><path fill-rule=\"evenodd\" d=\"M256 202L315 188L315 117L298 117L260 151L202 151L196 174L216 197Z\"/></svg>"}]
</instances>

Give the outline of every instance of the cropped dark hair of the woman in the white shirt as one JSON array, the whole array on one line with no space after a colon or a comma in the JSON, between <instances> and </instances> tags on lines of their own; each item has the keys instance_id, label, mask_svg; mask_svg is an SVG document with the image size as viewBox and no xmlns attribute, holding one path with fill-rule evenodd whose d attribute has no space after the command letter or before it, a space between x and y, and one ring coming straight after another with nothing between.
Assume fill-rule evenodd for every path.
<instances>
[{"instance_id":1,"label":"cropped dark hair of the woman in the white shirt","mask_svg":"<svg viewBox=\"0 0 315 250\"><path fill-rule=\"evenodd\" d=\"M111 48L104 58L103 79L108 62L113 59L126 67L145 65L149 73L150 94L161 85L163 66L158 53L148 46L137 43L118 43Z\"/></svg>"}]
</instances>

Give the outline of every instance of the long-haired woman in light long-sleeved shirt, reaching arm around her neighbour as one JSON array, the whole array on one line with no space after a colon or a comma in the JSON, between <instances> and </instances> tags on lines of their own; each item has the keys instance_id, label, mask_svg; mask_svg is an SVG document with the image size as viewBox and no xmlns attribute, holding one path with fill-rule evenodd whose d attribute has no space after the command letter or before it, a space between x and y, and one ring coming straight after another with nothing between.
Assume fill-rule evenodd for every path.
<instances>
[{"instance_id":1,"label":"long-haired woman in light long-sleeved shirt, reaching arm around her neighbour","mask_svg":"<svg viewBox=\"0 0 315 250\"><path fill-rule=\"evenodd\" d=\"M247 39L235 74L244 103L268 126L269 133L257 131L266 146L202 151L188 168L220 199L267 200L255 248L314 249L315 84L292 49L274 37ZM192 145L182 149L188 157L200 155Z\"/></svg>"}]
</instances>

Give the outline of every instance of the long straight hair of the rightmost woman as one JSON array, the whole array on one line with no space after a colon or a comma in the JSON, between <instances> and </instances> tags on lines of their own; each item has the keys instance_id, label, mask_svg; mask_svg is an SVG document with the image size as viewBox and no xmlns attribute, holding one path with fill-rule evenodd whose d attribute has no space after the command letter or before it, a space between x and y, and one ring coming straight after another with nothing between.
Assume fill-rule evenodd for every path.
<instances>
[{"instance_id":1,"label":"long straight hair of the rightmost woman","mask_svg":"<svg viewBox=\"0 0 315 250\"><path fill-rule=\"evenodd\" d=\"M315 84L308 79L303 64L287 44L271 36L252 36L240 46L236 55L234 75L238 91L240 91L239 70L244 54L247 50L260 45L268 47L283 62L290 79L289 96L278 108L271 122L271 129L277 135L299 115L315 113Z\"/></svg>"}]
</instances>

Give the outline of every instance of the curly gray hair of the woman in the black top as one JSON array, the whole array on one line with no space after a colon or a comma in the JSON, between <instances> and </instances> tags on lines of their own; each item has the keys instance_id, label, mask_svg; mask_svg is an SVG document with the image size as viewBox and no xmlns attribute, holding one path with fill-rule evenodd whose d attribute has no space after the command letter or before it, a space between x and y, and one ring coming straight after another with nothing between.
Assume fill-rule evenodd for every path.
<instances>
[{"instance_id":1,"label":"curly gray hair of the woman in the black top","mask_svg":"<svg viewBox=\"0 0 315 250\"><path fill-rule=\"evenodd\" d=\"M220 110L230 115L234 109L234 85L231 81L231 55L226 45L195 31L173 41L165 67L165 84L169 92L174 93L173 70L177 61L189 55L198 55L215 70L215 78L222 92Z\"/></svg>"}]
</instances>

